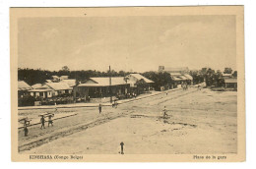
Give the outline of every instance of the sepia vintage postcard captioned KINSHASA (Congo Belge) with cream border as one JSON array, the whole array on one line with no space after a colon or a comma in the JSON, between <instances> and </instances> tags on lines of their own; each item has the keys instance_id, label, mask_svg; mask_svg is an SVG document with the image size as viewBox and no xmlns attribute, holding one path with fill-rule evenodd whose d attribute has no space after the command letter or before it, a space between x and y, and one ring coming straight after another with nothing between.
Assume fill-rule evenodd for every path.
<instances>
[{"instance_id":1,"label":"sepia vintage postcard captioned KINSHASA (Congo Belge) with cream border","mask_svg":"<svg viewBox=\"0 0 256 169\"><path fill-rule=\"evenodd\" d=\"M245 161L243 6L10 8L12 160Z\"/></svg>"}]
</instances>

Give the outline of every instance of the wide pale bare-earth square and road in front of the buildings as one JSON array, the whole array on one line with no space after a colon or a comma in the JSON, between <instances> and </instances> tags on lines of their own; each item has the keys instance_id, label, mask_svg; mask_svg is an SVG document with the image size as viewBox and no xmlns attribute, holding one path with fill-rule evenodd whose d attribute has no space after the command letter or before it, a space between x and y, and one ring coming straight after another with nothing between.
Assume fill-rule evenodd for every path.
<instances>
[{"instance_id":1,"label":"wide pale bare-earth square and road in front of the buildings","mask_svg":"<svg viewBox=\"0 0 256 169\"><path fill-rule=\"evenodd\" d=\"M126 154L213 154L237 151L237 98L235 91L208 88L176 90L120 104L117 108L63 108L77 113L45 125L19 131L20 153L118 154L124 142ZM163 119L166 106L167 117ZM47 112L54 110L47 110ZM45 110L20 110L37 117Z\"/></svg>"}]
</instances>

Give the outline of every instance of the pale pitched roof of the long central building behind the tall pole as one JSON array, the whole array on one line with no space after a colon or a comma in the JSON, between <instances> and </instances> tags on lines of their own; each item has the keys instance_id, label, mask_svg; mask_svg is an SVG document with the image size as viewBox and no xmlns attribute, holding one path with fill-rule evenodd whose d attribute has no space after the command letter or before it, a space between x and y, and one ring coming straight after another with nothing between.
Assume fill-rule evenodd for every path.
<instances>
[{"instance_id":1,"label":"pale pitched roof of the long central building behind the tall pole","mask_svg":"<svg viewBox=\"0 0 256 169\"><path fill-rule=\"evenodd\" d=\"M109 77L90 78L90 80L84 84L79 84L78 86L108 86L109 85ZM111 77L111 85L120 85L120 84L126 84L126 82L124 81L124 77Z\"/></svg>"}]
</instances>

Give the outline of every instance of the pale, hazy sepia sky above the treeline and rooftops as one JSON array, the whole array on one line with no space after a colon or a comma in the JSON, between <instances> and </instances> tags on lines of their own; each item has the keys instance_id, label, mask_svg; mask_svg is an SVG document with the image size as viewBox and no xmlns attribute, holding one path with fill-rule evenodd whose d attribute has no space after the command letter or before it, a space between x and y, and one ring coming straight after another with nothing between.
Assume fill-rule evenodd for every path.
<instances>
[{"instance_id":1,"label":"pale, hazy sepia sky above the treeline and rooftops","mask_svg":"<svg viewBox=\"0 0 256 169\"><path fill-rule=\"evenodd\" d=\"M22 18L19 68L236 70L235 16Z\"/></svg>"}]
</instances>

